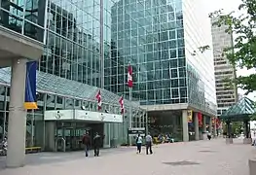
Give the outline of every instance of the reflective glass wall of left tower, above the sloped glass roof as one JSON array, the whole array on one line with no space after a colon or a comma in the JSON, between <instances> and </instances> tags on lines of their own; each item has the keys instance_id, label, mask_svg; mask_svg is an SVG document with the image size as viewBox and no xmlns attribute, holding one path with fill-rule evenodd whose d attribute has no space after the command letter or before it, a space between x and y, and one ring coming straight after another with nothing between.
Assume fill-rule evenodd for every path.
<instances>
[{"instance_id":1,"label":"reflective glass wall of left tower, above the sloped glass roof","mask_svg":"<svg viewBox=\"0 0 256 175\"><path fill-rule=\"evenodd\" d=\"M50 0L39 70L99 87L99 0Z\"/></svg>"}]
</instances>

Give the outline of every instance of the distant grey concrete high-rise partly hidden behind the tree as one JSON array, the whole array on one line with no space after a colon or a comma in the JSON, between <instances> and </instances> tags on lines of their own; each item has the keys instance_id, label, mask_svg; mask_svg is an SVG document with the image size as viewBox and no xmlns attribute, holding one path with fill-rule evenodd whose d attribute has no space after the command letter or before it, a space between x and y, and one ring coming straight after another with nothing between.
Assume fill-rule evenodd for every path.
<instances>
[{"instance_id":1,"label":"distant grey concrete high-rise partly hidden behind the tree","mask_svg":"<svg viewBox=\"0 0 256 175\"><path fill-rule=\"evenodd\" d=\"M211 18L211 23L217 19ZM220 27L212 25L211 27L218 116L238 102L238 87L227 84L227 80L236 77L236 69L223 56L223 50L233 46L233 36L226 33L226 29L227 26L225 25Z\"/></svg>"}]
</instances>

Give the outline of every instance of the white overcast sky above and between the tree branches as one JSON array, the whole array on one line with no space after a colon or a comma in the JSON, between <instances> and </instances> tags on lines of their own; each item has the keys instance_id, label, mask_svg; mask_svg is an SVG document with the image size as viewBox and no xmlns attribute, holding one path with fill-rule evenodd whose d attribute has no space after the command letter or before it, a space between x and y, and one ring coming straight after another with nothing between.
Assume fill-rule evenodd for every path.
<instances>
[{"instance_id":1,"label":"white overcast sky above and between the tree branches","mask_svg":"<svg viewBox=\"0 0 256 175\"><path fill-rule=\"evenodd\" d=\"M208 12L214 12L220 9L224 9L225 12L232 12L232 11L238 11L238 6L241 3L240 0L205 0L209 2L209 6L207 7ZM255 71L248 71L248 70L238 70L238 76L239 75L248 75L251 73L255 73ZM238 89L239 93L244 93L241 89ZM249 98L256 100L256 92L250 93L248 95Z\"/></svg>"}]
</instances>

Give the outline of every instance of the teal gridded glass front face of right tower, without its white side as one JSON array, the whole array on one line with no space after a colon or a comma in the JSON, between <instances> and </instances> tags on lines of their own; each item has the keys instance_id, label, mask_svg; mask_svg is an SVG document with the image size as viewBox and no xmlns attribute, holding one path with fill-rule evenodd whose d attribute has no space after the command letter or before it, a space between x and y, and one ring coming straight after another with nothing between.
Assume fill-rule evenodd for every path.
<instances>
[{"instance_id":1,"label":"teal gridded glass front face of right tower, without its white side","mask_svg":"<svg viewBox=\"0 0 256 175\"><path fill-rule=\"evenodd\" d=\"M133 68L132 99L140 104L187 102L181 3L120 0L111 7L111 57L105 59L105 88L128 97L128 62Z\"/></svg>"}]
</instances>

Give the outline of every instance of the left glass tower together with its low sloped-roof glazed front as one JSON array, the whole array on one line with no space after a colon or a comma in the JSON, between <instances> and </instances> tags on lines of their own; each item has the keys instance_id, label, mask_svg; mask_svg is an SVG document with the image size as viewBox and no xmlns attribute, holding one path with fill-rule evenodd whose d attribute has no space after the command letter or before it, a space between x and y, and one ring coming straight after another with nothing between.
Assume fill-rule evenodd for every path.
<instances>
[{"instance_id":1,"label":"left glass tower together with its low sloped-roof glazed front","mask_svg":"<svg viewBox=\"0 0 256 175\"><path fill-rule=\"evenodd\" d=\"M103 3L103 11L100 11L100 3ZM50 129L49 122L45 121L47 111L97 111L95 95L103 86L102 57L105 60L111 57L113 4L112 1L100 0L49 0L45 5L42 4L47 6L46 45L38 63L39 109L27 113L27 147L40 146L44 150L53 150L48 141ZM34 17L31 14L29 16ZM103 54L100 53L102 49ZM105 75L107 76L107 73ZM8 130L10 77L10 68L0 69L1 138L7 135ZM101 113L121 115L120 95L101 89L101 96ZM146 127L145 111L139 108L138 102L125 100L125 109L123 123L102 123L103 127L100 126L100 133L105 135L105 146L111 146L110 142L113 139L118 140L118 144L127 143L130 113L133 126ZM92 125L91 123L90 127L93 127ZM62 129L60 135L65 136L66 147L71 151L81 149L78 141L81 140L88 125L56 122L55 137L59 136L58 129L63 127L64 131ZM73 138L77 140L74 141Z\"/></svg>"}]
</instances>

